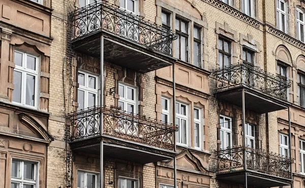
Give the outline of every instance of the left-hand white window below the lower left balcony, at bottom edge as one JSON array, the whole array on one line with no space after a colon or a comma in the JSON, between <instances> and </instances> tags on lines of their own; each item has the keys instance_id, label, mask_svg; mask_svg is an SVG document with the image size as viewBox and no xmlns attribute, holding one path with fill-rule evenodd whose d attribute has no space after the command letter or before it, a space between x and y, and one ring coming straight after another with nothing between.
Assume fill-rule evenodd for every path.
<instances>
[{"instance_id":1,"label":"left-hand white window below the lower left balcony, at bottom edge","mask_svg":"<svg viewBox=\"0 0 305 188\"><path fill-rule=\"evenodd\" d=\"M97 175L93 173L77 171L77 188L96 188Z\"/></svg>"}]
</instances>

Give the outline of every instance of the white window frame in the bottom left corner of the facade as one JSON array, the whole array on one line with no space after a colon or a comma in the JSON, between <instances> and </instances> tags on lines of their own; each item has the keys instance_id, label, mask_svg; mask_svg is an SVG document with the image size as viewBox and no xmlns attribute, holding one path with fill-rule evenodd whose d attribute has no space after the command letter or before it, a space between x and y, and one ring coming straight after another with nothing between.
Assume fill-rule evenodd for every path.
<instances>
[{"instance_id":1,"label":"white window frame in the bottom left corner of the facade","mask_svg":"<svg viewBox=\"0 0 305 188\"><path fill-rule=\"evenodd\" d=\"M20 162L20 166L19 166L20 178L11 176L11 183L12 182L20 183L19 188L22 188L23 184L32 184L34 185L34 188L39 187L39 162L13 158L11 160L11 168L13 161ZM24 162L34 164L34 180L24 179L23 177Z\"/></svg>"}]
</instances>

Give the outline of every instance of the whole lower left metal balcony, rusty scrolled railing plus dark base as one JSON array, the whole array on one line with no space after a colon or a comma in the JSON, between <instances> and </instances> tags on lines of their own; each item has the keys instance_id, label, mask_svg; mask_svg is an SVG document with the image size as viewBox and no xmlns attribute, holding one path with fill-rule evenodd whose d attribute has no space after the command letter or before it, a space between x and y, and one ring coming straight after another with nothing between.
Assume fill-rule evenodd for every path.
<instances>
[{"instance_id":1,"label":"whole lower left metal balcony, rusty scrolled railing plus dark base","mask_svg":"<svg viewBox=\"0 0 305 188\"><path fill-rule=\"evenodd\" d=\"M100 114L103 112L103 132ZM73 112L71 148L99 155L97 145L105 141L105 154L122 160L148 163L174 155L173 134L177 130L150 118L139 117L117 107L92 107Z\"/></svg>"}]
</instances>

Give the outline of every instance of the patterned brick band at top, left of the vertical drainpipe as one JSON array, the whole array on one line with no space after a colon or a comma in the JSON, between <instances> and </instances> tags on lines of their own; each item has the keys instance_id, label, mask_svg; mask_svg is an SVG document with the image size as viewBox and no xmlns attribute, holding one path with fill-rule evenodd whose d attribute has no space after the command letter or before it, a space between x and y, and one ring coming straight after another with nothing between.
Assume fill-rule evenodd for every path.
<instances>
[{"instance_id":1,"label":"patterned brick band at top, left of the vertical drainpipe","mask_svg":"<svg viewBox=\"0 0 305 188\"><path fill-rule=\"evenodd\" d=\"M256 21L255 19L251 18L250 16L247 16L247 15L237 11L233 7L227 5L219 0L202 0L202 1L234 16L237 19L240 19L240 20L252 25L253 27L259 28L261 25L260 22Z\"/></svg>"}]
</instances>

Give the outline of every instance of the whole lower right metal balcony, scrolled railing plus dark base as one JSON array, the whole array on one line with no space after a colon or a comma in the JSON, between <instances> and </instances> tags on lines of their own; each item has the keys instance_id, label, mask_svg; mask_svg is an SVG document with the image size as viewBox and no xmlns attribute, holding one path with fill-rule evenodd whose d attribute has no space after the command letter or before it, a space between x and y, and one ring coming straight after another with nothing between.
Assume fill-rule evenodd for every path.
<instances>
[{"instance_id":1,"label":"whole lower right metal balcony, scrolled railing plus dark base","mask_svg":"<svg viewBox=\"0 0 305 188\"><path fill-rule=\"evenodd\" d=\"M248 146L220 149L215 154L217 178L221 181L245 184L247 174L248 186L274 187L292 182L290 158Z\"/></svg>"}]
</instances>

